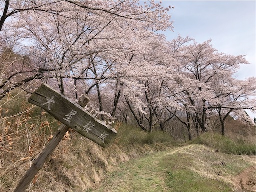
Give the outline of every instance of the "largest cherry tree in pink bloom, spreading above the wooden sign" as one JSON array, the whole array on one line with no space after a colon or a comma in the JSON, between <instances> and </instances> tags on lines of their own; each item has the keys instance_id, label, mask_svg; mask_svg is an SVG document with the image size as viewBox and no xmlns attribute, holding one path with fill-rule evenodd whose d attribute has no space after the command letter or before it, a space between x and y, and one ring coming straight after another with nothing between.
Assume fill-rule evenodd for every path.
<instances>
[{"instance_id":1,"label":"largest cherry tree in pink bloom, spreading above the wooden sign","mask_svg":"<svg viewBox=\"0 0 256 192\"><path fill-rule=\"evenodd\" d=\"M116 65L140 51L142 45L137 46L138 39L145 41L158 30L172 28L167 14L169 8L153 1L144 5L136 1L8 3L5 8L9 5L10 12L4 12L3 17L14 13L16 16L15 22L7 22L2 31L8 35L8 41L13 42L11 34L14 32L19 39L25 40L25 44L19 42L19 46L26 47L40 78L56 82L53 85L57 84L63 94L74 90L76 98L78 93L89 93L94 87L99 90L100 98L100 84L104 86L107 80L118 79ZM79 85L86 85L85 90L78 91ZM118 95L120 89L112 114L118 104ZM103 110L100 103L100 110Z\"/></svg>"}]
</instances>

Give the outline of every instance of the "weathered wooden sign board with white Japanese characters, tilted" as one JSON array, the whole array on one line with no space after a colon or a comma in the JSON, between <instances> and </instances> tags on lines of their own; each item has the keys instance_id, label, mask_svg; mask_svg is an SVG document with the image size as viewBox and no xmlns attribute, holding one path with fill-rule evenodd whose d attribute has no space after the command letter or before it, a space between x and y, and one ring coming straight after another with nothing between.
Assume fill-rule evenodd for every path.
<instances>
[{"instance_id":1,"label":"weathered wooden sign board with white Japanese characters, tilted","mask_svg":"<svg viewBox=\"0 0 256 192\"><path fill-rule=\"evenodd\" d=\"M42 84L28 102L42 107L55 119L102 147L106 147L117 134L111 126L46 84Z\"/></svg>"}]
</instances>

